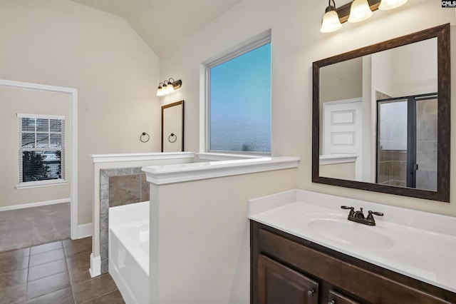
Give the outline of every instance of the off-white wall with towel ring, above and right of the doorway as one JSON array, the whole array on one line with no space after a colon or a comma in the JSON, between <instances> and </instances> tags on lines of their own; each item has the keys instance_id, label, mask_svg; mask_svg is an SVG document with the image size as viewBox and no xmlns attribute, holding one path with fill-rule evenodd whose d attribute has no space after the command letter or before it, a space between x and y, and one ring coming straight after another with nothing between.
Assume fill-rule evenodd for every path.
<instances>
[{"instance_id":1,"label":"off-white wall with towel ring, above and right of the doorway","mask_svg":"<svg viewBox=\"0 0 456 304\"><path fill-rule=\"evenodd\" d=\"M89 155L160 151L157 56L123 19L68 0L0 1L0 54L1 79L78 89L78 223L92 222Z\"/></svg>"}]
</instances>

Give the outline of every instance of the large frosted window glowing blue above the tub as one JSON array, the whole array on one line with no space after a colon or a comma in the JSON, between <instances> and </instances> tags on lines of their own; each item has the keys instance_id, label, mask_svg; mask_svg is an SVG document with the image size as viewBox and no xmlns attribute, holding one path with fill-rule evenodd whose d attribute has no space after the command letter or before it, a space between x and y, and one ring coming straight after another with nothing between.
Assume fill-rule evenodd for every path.
<instances>
[{"instance_id":1,"label":"large frosted window glowing blue above the tub","mask_svg":"<svg viewBox=\"0 0 456 304\"><path fill-rule=\"evenodd\" d=\"M207 151L271 152L271 35L207 64Z\"/></svg>"}]
</instances>

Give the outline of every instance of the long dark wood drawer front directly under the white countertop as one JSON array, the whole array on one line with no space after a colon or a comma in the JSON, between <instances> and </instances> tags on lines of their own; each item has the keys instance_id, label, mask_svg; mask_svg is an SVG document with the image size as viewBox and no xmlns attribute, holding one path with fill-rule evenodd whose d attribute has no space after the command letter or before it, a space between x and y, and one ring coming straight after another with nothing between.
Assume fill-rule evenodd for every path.
<instances>
[{"instance_id":1,"label":"long dark wood drawer front directly under the white countertop","mask_svg":"<svg viewBox=\"0 0 456 304\"><path fill-rule=\"evenodd\" d=\"M353 298L362 298L368 303L454 303L452 298L450 301L443 300L438 295L410 288L392 278L373 273L370 269L360 268L310 248L303 244L306 243L305 240L297 243L262 228L257 231L257 237L258 253L268 255L274 260L286 261L286 264L302 270L303 273L309 273L318 280L337 286L338 289L346 291L346 295L353 295Z\"/></svg>"}]
</instances>

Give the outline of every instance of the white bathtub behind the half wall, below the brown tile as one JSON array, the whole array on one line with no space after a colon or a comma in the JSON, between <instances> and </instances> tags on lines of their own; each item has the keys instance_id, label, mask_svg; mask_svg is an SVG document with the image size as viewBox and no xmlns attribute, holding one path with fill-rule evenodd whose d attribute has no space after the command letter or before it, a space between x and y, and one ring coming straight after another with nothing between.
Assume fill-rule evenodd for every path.
<instances>
[{"instance_id":1,"label":"white bathtub behind the half wall, below the brown tile","mask_svg":"<svg viewBox=\"0 0 456 304\"><path fill-rule=\"evenodd\" d=\"M109 273L125 303L149 303L149 202L109 208Z\"/></svg>"}]
</instances>

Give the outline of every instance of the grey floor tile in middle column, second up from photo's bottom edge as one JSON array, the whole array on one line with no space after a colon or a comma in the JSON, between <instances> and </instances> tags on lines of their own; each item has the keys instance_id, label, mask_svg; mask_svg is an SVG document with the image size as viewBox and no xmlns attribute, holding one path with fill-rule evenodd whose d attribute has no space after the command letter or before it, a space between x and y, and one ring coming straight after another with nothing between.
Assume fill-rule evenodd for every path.
<instances>
[{"instance_id":1,"label":"grey floor tile in middle column, second up from photo's bottom edge","mask_svg":"<svg viewBox=\"0 0 456 304\"><path fill-rule=\"evenodd\" d=\"M53 293L61 290L70 285L70 278L68 273L58 273L57 275L50 275L46 278L33 280L27 284L27 300Z\"/></svg>"}]
</instances>

